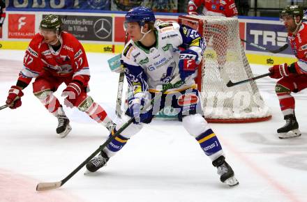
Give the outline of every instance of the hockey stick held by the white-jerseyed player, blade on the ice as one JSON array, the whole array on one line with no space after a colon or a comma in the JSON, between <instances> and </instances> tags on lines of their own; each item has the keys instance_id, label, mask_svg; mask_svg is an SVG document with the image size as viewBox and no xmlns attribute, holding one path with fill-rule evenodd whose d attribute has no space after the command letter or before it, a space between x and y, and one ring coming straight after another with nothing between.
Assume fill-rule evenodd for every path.
<instances>
[{"instance_id":1,"label":"hockey stick held by the white-jerseyed player, blade on the ice","mask_svg":"<svg viewBox=\"0 0 307 202\"><path fill-rule=\"evenodd\" d=\"M160 91L160 93L158 95L156 95L156 98L151 99L151 102L143 107L142 111L144 111L145 109L150 107L151 104L153 104L153 102L156 99L159 100L160 96L162 96L163 93L165 93L168 89L174 88L174 86L177 86L177 85L180 86L183 83L184 82L180 80L179 75L177 77L174 77L174 79L172 79L172 81L169 84L166 84L163 87L163 90ZM123 130L125 130L126 127L128 127L131 123L133 123L134 120L135 120L135 118L130 118L127 123L122 125L121 128L119 128L119 130L117 130L117 132L115 132L115 134L112 137L109 137L109 139L107 139L105 141L105 143L100 145L99 148L96 151L94 151L89 157L87 157L87 159L84 160L84 162L82 162L82 164L77 166L77 168L75 170L73 170L68 176L66 176L66 178L63 178L63 180L60 180L58 182L40 182L40 183L38 183L38 185L36 185L36 191L45 191L45 190L56 189L56 188L61 187L70 178L72 178L75 175L75 173L80 171L80 169L82 169L82 167L85 166L85 164L87 164L87 162L89 162L93 157L95 157L100 152L100 150L103 150L103 148L105 148L105 146L107 146L108 143L110 143L113 139L115 139L117 136L119 136L119 134L121 132L123 132Z\"/></svg>"}]
</instances>

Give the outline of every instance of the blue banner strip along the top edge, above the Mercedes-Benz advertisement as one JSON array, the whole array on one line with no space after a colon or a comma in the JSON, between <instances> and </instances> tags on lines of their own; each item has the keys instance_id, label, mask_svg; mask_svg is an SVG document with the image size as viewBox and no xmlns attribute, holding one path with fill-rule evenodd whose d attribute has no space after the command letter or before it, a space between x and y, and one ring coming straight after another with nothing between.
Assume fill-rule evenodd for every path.
<instances>
[{"instance_id":1,"label":"blue banner strip along the top edge, above the Mercedes-Benz advertisement","mask_svg":"<svg viewBox=\"0 0 307 202\"><path fill-rule=\"evenodd\" d=\"M110 10L111 0L10 0L7 8Z\"/></svg>"}]
</instances>

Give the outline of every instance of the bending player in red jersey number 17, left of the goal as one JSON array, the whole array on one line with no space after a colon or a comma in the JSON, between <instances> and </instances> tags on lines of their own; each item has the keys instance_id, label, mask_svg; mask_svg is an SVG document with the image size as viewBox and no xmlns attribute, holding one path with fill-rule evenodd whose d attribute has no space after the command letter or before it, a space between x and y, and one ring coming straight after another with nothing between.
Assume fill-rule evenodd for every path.
<instances>
[{"instance_id":1,"label":"bending player in red jersey number 17, left of the goal","mask_svg":"<svg viewBox=\"0 0 307 202\"><path fill-rule=\"evenodd\" d=\"M61 94L65 97L64 104L85 111L93 120L110 129L114 123L105 110L87 95L90 74L84 49L72 34L61 30L61 24L61 18L57 15L47 15L40 22L40 33L36 33L27 48L24 67L17 84L8 92L6 104L11 109L20 107L20 98L24 95L22 89L36 78L33 94L57 117L57 134L66 137L71 130L69 119L54 96L57 88L65 83L66 88Z\"/></svg>"}]
</instances>

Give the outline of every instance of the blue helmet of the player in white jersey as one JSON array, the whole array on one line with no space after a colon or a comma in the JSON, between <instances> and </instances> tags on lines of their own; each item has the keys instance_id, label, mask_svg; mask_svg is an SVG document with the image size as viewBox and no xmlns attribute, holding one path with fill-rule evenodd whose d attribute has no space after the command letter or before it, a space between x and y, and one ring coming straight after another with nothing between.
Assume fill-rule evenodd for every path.
<instances>
[{"instance_id":1,"label":"blue helmet of the player in white jersey","mask_svg":"<svg viewBox=\"0 0 307 202\"><path fill-rule=\"evenodd\" d=\"M144 26L145 22L156 22L156 17L150 8L139 6L132 8L126 14L124 26L127 27L128 22L138 22L140 26Z\"/></svg>"}]
</instances>

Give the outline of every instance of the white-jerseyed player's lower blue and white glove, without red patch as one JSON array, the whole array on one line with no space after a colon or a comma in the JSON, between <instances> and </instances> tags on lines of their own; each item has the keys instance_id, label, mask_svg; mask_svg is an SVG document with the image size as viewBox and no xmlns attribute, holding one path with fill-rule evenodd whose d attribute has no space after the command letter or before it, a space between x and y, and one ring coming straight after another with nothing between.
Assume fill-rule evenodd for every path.
<instances>
[{"instance_id":1,"label":"white-jerseyed player's lower blue and white glove, without red patch","mask_svg":"<svg viewBox=\"0 0 307 202\"><path fill-rule=\"evenodd\" d=\"M133 98L129 100L129 113L131 117L135 118L133 123L140 123L149 118L149 114L147 112L141 114L141 110L148 102L149 100L146 98L145 93L136 93Z\"/></svg>"}]
</instances>

